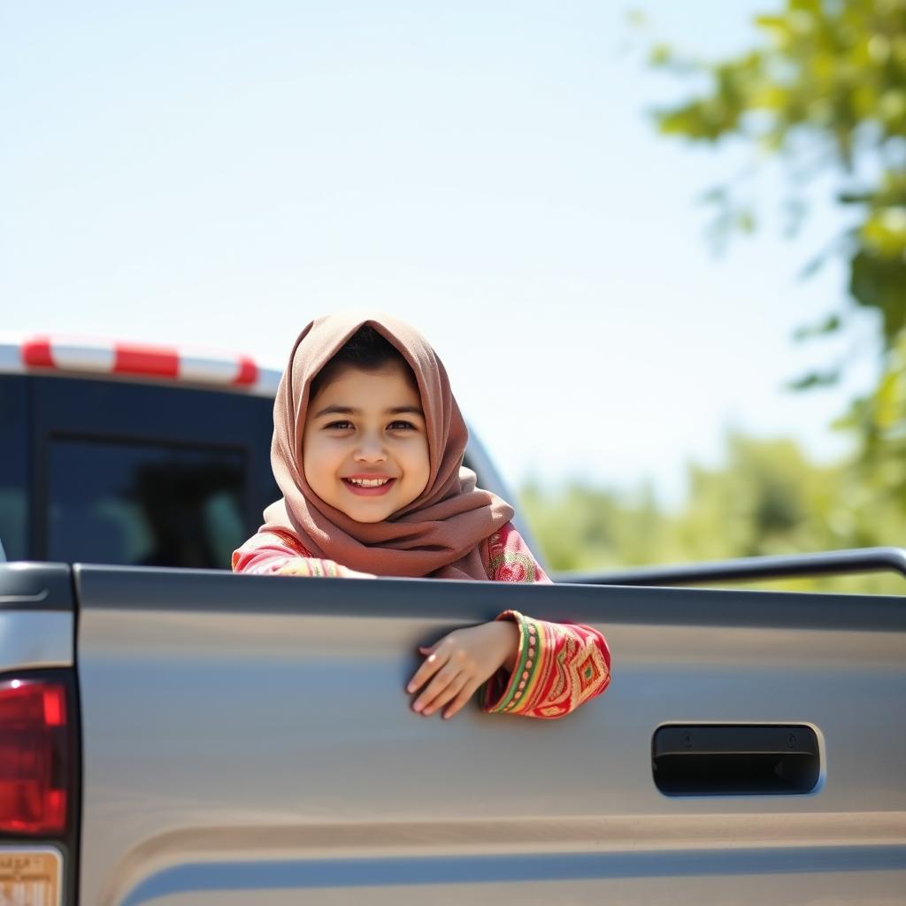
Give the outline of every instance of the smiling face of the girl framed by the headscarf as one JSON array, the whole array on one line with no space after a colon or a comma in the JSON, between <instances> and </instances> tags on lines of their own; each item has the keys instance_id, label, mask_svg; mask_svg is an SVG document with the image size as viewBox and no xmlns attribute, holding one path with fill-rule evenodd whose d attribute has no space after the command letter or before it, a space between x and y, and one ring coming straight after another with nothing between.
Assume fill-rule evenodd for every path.
<instances>
[{"instance_id":1,"label":"smiling face of the girl framed by the headscarf","mask_svg":"<svg viewBox=\"0 0 906 906\"><path fill-rule=\"evenodd\" d=\"M309 400L302 441L305 480L356 522L381 522L428 485L419 393L404 367L348 368Z\"/></svg>"}]
</instances>

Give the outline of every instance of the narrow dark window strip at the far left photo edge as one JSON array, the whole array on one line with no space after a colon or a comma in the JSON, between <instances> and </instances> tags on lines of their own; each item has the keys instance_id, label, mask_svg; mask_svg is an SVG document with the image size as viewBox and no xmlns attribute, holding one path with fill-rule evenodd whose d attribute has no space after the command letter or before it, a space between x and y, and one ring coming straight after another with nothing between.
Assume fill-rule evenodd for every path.
<instances>
[{"instance_id":1,"label":"narrow dark window strip at the far left photo edge","mask_svg":"<svg viewBox=\"0 0 906 906\"><path fill-rule=\"evenodd\" d=\"M0 375L0 541L8 560L28 558L28 423L24 378Z\"/></svg>"}]
</instances>

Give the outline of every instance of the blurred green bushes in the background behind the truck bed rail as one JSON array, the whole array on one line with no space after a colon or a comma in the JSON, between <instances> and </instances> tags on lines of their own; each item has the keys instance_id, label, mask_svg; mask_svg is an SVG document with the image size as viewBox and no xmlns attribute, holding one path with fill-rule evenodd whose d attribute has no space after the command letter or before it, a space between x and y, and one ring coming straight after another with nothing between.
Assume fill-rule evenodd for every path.
<instances>
[{"instance_id":1,"label":"blurred green bushes in the background behind the truck bed rail","mask_svg":"<svg viewBox=\"0 0 906 906\"><path fill-rule=\"evenodd\" d=\"M906 381L897 392L901 405ZM877 407L870 408L865 418L876 419ZM902 445L902 405L898 411ZM882 449L886 456L889 448ZM723 467L689 466L689 493L677 509L659 506L651 488L628 495L580 483L549 489L530 482L520 495L523 512L554 570L906 546L901 502L879 496L861 464L818 466L791 440L740 434L728 437L726 458ZM902 457L894 461L901 464ZM906 579L879 573L771 587L903 594Z\"/></svg>"}]
</instances>

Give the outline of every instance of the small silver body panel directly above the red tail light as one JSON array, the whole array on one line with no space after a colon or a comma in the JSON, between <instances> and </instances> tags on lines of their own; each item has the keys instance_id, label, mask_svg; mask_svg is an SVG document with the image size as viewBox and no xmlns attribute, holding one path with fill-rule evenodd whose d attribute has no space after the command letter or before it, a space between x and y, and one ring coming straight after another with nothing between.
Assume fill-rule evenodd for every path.
<instances>
[{"instance_id":1,"label":"small silver body panel directly above the red tail light","mask_svg":"<svg viewBox=\"0 0 906 906\"><path fill-rule=\"evenodd\" d=\"M0 611L0 670L72 667L72 613Z\"/></svg>"}]
</instances>

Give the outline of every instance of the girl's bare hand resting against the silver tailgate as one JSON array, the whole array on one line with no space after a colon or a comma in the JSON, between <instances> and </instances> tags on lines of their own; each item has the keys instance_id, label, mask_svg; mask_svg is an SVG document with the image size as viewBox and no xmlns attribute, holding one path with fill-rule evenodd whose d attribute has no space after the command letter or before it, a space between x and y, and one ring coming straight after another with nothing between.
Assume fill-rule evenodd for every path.
<instances>
[{"instance_id":1,"label":"girl's bare hand resting against the silver tailgate","mask_svg":"<svg viewBox=\"0 0 906 906\"><path fill-rule=\"evenodd\" d=\"M428 686L415 699L412 709L427 718L438 708L448 705L444 719L452 718L497 670L501 667L513 670L518 650L519 629L516 623L508 620L458 629L430 648L419 648L428 657L406 691L415 692L425 683Z\"/></svg>"}]
</instances>

